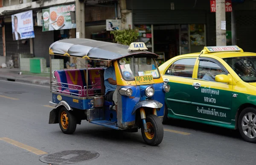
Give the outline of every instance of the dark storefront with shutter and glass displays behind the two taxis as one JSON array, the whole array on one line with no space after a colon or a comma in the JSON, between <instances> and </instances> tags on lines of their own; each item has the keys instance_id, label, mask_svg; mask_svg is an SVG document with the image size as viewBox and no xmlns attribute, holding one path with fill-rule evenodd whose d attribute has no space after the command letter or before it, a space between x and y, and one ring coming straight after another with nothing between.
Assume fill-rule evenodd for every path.
<instances>
[{"instance_id":1,"label":"dark storefront with shutter and glass displays behind the two taxis","mask_svg":"<svg viewBox=\"0 0 256 165\"><path fill-rule=\"evenodd\" d=\"M150 42L149 51L160 55L159 65L180 54L200 52L206 45L206 20L206 11L133 10L139 40Z\"/></svg>"}]
</instances>

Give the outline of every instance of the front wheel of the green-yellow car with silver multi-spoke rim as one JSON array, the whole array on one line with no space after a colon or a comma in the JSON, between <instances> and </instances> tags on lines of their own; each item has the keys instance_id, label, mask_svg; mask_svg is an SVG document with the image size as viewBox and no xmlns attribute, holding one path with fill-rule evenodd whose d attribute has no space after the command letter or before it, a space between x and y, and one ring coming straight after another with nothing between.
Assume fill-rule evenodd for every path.
<instances>
[{"instance_id":1,"label":"front wheel of the green-yellow car with silver multi-spoke rim","mask_svg":"<svg viewBox=\"0 0 256 165\"><path fill-rule=\"evenodd\" d=\"M256 109L245 108L239 115L238 127L245 141L256 143Z\"/></svg>"}]
</instances>

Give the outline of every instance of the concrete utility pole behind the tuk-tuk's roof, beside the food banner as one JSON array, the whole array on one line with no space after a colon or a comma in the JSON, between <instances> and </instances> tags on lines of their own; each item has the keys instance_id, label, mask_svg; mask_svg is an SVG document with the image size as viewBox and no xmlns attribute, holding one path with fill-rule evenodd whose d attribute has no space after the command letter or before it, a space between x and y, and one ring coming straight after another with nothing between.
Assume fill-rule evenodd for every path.
<instances>
[{"instance_id":1,"label":"concrete utility pole behind the tuk-tuk's roof, beside the food banner","mask_svg":"<svg viewBox=\"0 0 256 165\"><path fill-rule=\"evenodd\" d=\"M76 38L85 38L84 0L76 0ZM83 68L85 59L77 59L76 64L77 69Z\"/></svg>"}]
</instances>

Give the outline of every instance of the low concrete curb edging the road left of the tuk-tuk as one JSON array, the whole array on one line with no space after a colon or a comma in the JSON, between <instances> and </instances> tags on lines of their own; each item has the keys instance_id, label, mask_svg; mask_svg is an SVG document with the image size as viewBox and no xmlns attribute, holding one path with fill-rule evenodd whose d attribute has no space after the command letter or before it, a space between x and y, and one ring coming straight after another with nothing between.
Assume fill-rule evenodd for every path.
<instances>
[{"instance_id":1,"label":"low concrete curb edging the road left of the tuk-tuk","mask_svg":"<svg viewBox=\"0 0 256 165\"><path fill-rule=\"evenodd\" d=\"M7 81L16 81L16 82L23 82L23 83L29 83L29 84L37 84L37 85L44 85L44 86L50 86L49 80L41 80L41 79L26 79L26 78L19 78L14 76L6 76L6 75L0 75L1 80L7 80Z\"/></svg>"}]
</instances>

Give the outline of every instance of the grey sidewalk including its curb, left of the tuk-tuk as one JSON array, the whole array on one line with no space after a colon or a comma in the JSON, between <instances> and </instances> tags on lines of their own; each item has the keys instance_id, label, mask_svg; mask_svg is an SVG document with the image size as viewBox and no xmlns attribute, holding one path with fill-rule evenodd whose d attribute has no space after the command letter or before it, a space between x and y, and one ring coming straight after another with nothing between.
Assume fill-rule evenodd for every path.
<instances>
[{"instance_id":1,"label":"grey sidewalk including its curb, left of the tuk-tuk","mask_svg":"<svg viewBox=\"0 0 256 165\"><path fill-rule=\"evenodd\" d=\"M0 79L32 83L32 84L40 84L45 86L50 85L50 77L49 77L50 73L34 74L34 73L21 71L22 74L19 75L18 74L19 72L20 70L17 68L12 68L12 69L0 68Z\"/></svg>"}]
</instances>

